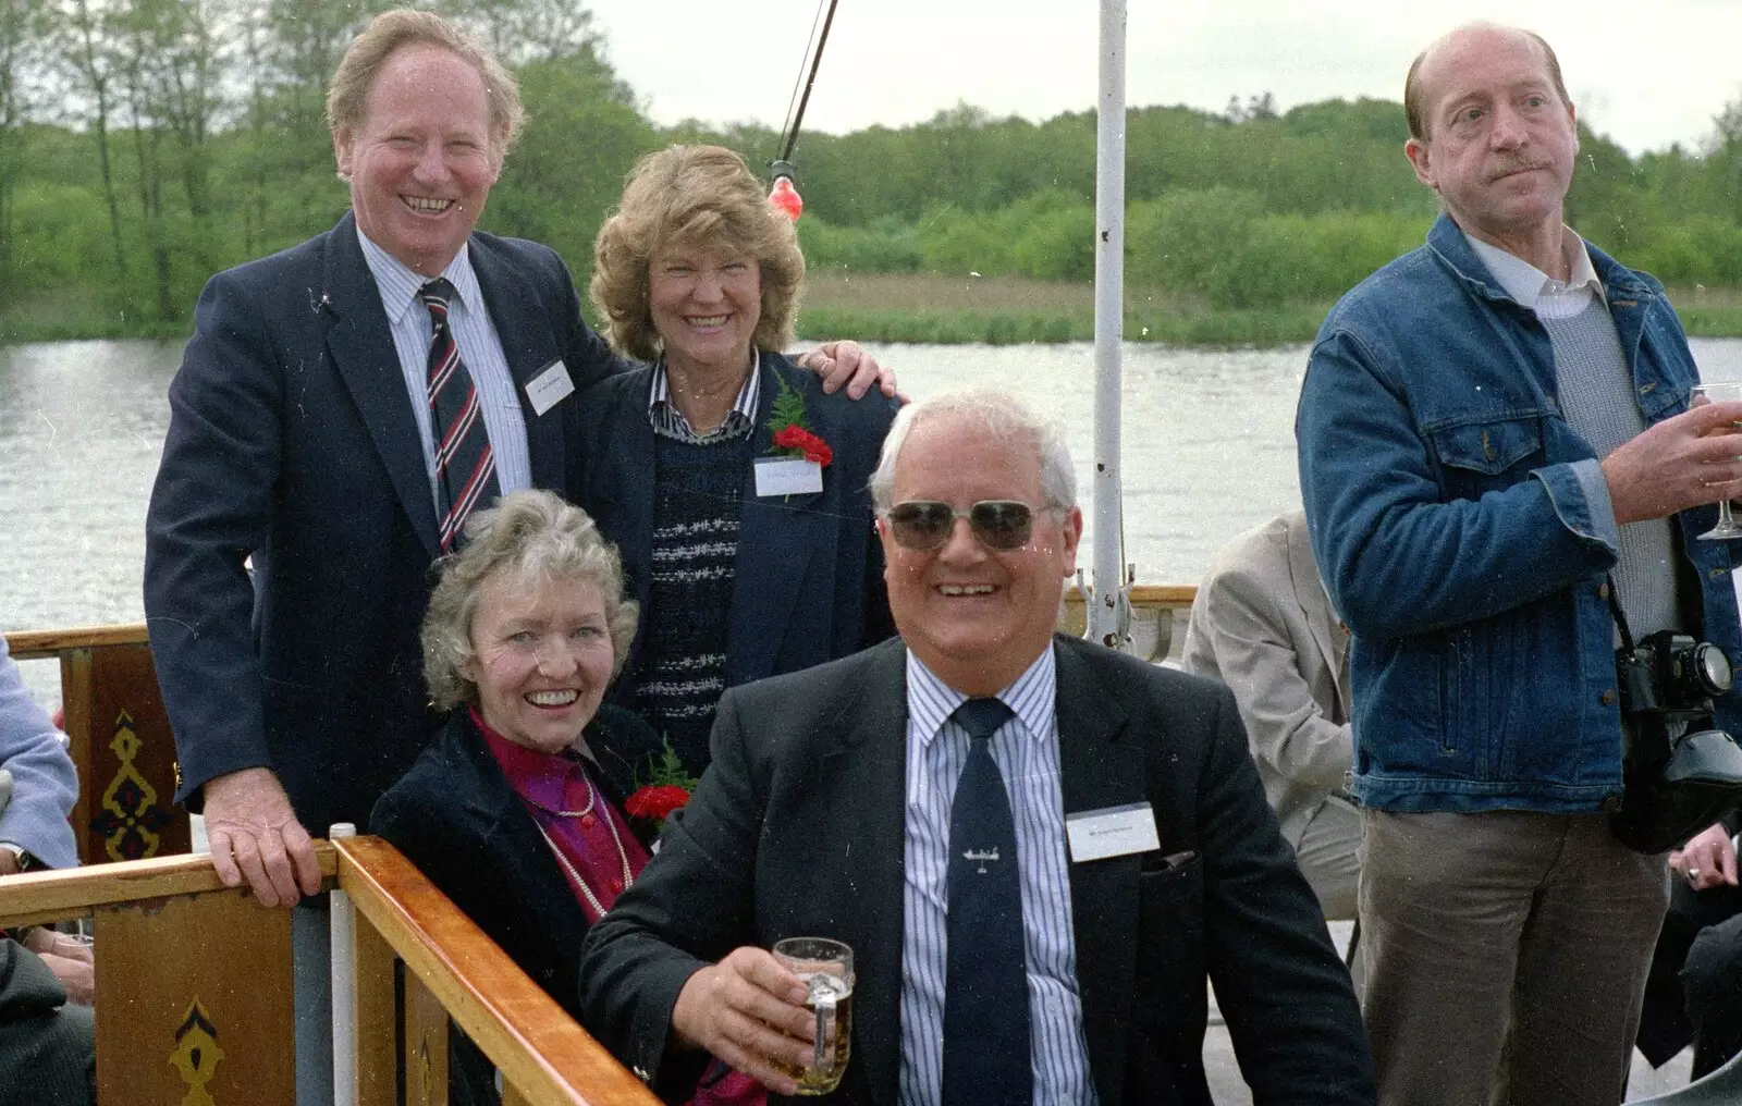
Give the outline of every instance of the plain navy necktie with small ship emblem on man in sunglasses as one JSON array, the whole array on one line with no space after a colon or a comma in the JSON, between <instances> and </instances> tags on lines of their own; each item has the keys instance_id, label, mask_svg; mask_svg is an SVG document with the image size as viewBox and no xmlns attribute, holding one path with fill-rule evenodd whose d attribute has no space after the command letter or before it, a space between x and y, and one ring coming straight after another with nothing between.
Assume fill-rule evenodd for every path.
<instances>
[{"instance_id":1,"label":"plain navy necktie with small ship emblem on man in sunglasses","mask_svg":"<svg viewBox=\"0 0 1742 1106\"><path fill-rule=\"evenodd\" d=\"M996 698L951 714L972 740L949 808L942 1106L1031 1106L1035 1096L1016 820L991 759L991 735L1010 714Z\"/></svg>"}]
</instances>

